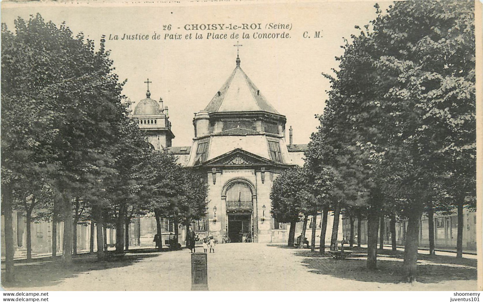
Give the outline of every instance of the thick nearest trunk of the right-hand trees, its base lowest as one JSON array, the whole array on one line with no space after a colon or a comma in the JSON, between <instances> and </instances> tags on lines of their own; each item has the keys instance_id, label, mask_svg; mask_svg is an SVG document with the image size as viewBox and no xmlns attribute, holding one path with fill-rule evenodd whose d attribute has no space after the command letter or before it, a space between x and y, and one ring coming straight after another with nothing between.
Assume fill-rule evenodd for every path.
<instances>
[{"instance_id":1,"label":"thick nearest trunk of the right-hand trees, its base lowest","mask_svg":"<svg viewBox=\"0 0 483 302\"><path fill-rule=\"evenodd\" d=\"M403 269L407 282L416 281L419 245L419 219L421 218L421 214L422 211L412 209L412 213L408 216L408 230L406 231L403 262Z\"/></svg>"}]
</instances>

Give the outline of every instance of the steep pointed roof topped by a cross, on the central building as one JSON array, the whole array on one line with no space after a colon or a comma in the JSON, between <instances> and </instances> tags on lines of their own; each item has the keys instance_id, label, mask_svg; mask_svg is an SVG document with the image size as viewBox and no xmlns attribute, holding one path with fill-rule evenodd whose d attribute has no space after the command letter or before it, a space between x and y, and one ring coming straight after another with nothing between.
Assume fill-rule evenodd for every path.
<instances>
[{"instance_id":1,"label":"steep pointed roof topped by a cross, on the central building","mask_svg":"<svg viewBox=\"0 0 483 302\"><path fill-rule=\"evenodd\" d=\"M260 90L248 78L240 67L240 58L236 60L237 67L228 77L227 82L213 96L205 110L213 112L233 111L266 111L273 114L280 113L273 108Z\"/></svg>"}]
</instances>

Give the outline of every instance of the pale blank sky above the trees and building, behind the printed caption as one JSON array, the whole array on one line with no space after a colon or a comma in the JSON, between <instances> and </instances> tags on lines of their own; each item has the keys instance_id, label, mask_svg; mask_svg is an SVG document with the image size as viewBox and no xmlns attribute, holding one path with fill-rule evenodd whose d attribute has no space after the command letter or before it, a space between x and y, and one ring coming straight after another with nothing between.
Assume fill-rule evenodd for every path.
<instances>
[{"instance_id":1,"label":"pale blank sky above the trees and building, behind the printed caption","mask_svg":"<svg viewBox=\"0 0 483 302\"><path fill-rule=\"evenodd\" d=\"M322 73L337 69L335 57L343 54L343 38L357 35L356 25L362 27L376 17L375 1L123 3L2 2L1 22L14 30L18 16L28 19L30 14L40 13L57 25L65 21L74 35L83 32L98 45L105 35L114 72L120 81L128 80L124 95L135 106L145 97L144 82L149 78L151 98L162 97L168 106L173 146L191 145L194 113L208 105L236 67L235 44L242 45L241 68L286 116L286 127L293 127L294 143L308 143L319 124L315 114L323 113L330 89ZM378 3L381 7L391 4ZM200 29L207 24L223 24L223 29ZM270 24L288 28L274 29ZM185 29L196 25L198 30ZM235 25L241 28L235 29ZM320 32L319 38L315 32ZM152 39L155 33L160 39ZM191 39L185 39L190 33ZM203 39L195 39L195 33ZM242 38L243 33L249 38ZM259 33L288 33L289 38L254 39ZM149 40L121 40L124 34L148 35ZM227 38L213 39L215 34L227 34ZM238 39L231 39L231 34L238 34ZM109 40L110 35L117 35L118 40Z\"/></svg>"}]
</instances>

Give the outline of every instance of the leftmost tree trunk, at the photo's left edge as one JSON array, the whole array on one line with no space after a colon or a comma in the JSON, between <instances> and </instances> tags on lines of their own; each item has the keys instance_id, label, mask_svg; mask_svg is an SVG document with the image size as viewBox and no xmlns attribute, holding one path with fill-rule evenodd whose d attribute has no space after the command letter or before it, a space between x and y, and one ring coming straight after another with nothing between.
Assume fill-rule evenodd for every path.
<instances>
[{"instance_id":1,"label":"leftmost tree trunk, at the photo's left edge","mask_svg":"<svg viewBox=\"0 0 483 302\"><path fill-rule=\"evenodd\" d=\"M5 281L12 282L14 274L14 227L12 217L12 191L8 185L2 185L2 210L5 232Z\"/></svg>"}]
</instances>

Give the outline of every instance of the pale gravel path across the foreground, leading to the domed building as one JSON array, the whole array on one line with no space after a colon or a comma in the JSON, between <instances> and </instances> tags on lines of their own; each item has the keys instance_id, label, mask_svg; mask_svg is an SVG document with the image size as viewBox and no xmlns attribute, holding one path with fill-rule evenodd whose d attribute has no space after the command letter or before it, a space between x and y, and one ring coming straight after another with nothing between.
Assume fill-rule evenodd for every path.
<instances>
[{"instance_id":1,"label":"pale gravel path across the foreground, leading to the domed building","mask_svg":"<svg viewBox=\"0 0 483 302\"><path fill-rule=\"evenodd\" d=\"M130 258L131 255L134 258ZM189 290L189 250L143 253L123 261L76 263L69 272L58 264L30 265L32 280L10 290ZM364 257L345 261L321 258L310 250L253 243L216 246L208 253L210 290L475 290L476 261L445 264L422 260L422 282L398 283L400 259L381 257L380 270L365 271ZM470 261L470 260L467 260ZM473 261L473 260L471 260ZM104 265L104 267L99 267ZM20 265L19 265L20 266ZM34 272L37 270L38 272ZM42 271L43 270L43 271ZM39 273L40 272L40 273ZM20 274L21 272L19 272ZM44 275L42 275L44 274ZM394 274L394 275L393 275ZM64 277L67 275L67 277Z\"/></svg>"}]
</instances>

